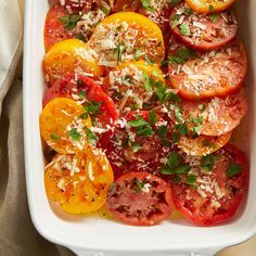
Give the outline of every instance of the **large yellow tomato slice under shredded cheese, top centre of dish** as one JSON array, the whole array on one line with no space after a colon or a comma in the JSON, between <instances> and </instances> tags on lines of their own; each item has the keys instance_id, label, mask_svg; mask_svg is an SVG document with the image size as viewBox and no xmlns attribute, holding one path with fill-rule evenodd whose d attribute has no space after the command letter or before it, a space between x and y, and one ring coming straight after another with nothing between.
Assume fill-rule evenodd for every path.
<instances>
[{"instance_id":1,"label":"large yellow tomato slice under shredded cheese, top centre of dish","mask_svg":"<svg viewBox=\"0 0 256 256\"><path fill-rule=\"evenodd\" d=\"M120 12L106 17L94 29L89 46L100 55L99 64L110 67L135 59L159 63L165 56L159 27L133 12Z\"/></svg>"}]
</instances>

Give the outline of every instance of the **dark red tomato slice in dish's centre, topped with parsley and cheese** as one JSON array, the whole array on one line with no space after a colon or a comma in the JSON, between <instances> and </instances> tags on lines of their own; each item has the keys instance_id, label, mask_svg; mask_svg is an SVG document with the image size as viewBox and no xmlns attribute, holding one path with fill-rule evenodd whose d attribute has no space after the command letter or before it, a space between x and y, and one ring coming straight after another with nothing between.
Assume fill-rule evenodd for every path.
<instances>
[{"instance_id":1,"label":"dark red tomato slice in dish's centre, topped with parsley and cheese","mask_svg":"<svg viewBox=\"0 0 256 256\"><path fill-rule=\"evenodd\" d=\"M101 135L98 146L105 150L115 178L131 171L157 174L162 158L170 152L167 121L155 116L155 124L150 125L149 116L148 111L130 112Z\"/></svg>"}]
</instances>

